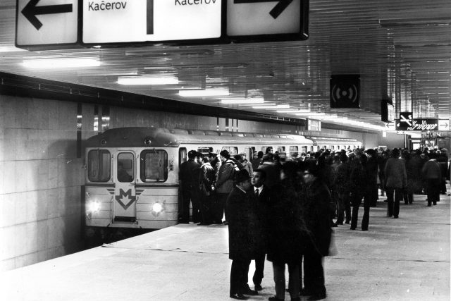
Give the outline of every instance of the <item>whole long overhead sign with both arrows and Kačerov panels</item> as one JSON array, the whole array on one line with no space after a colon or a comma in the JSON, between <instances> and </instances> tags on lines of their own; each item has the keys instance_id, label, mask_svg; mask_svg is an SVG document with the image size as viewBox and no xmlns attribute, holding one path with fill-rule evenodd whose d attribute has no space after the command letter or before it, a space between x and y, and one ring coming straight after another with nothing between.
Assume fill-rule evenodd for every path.
<instances>
[{"instance_id":1,"label":"whole long overhead sign with both arrows and Ka\u010derov panels","mask_svg":"<svg viewBox=\"0 0 451 301\"><path fill-rule=\"evenodd\" d=\"M308 0L18 0L16 46L307 39L308 6Z\"/></svg>"}]
</instances>

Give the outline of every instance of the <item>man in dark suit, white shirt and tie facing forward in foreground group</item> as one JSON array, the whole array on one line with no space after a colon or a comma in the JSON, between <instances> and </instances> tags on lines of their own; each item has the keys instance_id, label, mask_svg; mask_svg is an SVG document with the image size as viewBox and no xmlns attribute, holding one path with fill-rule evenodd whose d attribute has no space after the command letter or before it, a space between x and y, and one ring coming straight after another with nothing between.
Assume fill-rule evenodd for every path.
<instances>
[{"instance_id":1,"label":"man in dark suit, white shirt and tie facing forward in foreground group","mask_svg":"<svg viewBox=\"0 0 451 301\"><path fill-rule=\"evenodd\" d=\"M255 273L252 277L254 282L255 290L262 290L261 280L264 275L265 268L265 256L266 247L268 244L268 204L270 199L270 190L264 185L266 180L266 173L261 169L256 169L252 175L251 183L254 187L253 189L253 206L257 214L257 228L256 228L256 238L257 238L257 254L255 257Z\"/></svg>"}]
</instances>

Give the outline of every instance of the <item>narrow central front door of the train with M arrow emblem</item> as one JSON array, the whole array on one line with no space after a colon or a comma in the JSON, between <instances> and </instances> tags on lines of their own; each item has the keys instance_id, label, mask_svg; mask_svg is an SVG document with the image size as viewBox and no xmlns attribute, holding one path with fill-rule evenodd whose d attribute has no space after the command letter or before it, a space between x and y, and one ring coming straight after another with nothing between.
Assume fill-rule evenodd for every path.
<instances>
[{"instance_id":1,"label":"narrow central front door of the train with M arrow emblem","mask_svg":"<svg viewBox=\"0 0 451 301\"><path fill-rule=\"evenodd\" d=\"M136 221L136 164L134 152L117 152L114 221Z\"/></svg>"}]
</instances>

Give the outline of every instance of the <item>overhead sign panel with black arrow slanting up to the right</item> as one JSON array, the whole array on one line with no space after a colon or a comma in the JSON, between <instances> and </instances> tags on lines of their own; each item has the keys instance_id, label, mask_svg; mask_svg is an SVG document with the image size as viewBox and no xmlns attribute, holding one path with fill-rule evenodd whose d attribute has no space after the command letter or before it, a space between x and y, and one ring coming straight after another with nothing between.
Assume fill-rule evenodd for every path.
<instances>
[{"instance_id":1,"label":"overhead sign panel with black arrow slanting up to the right","mask_svg":"<svg viewBox=\"0 0 451 301\"><path fill-rule=\"evenodd\" d=\"M308 4L307 0L227 0L227 35L237 42L307 39Z\"/></svg>"}]
</instances>

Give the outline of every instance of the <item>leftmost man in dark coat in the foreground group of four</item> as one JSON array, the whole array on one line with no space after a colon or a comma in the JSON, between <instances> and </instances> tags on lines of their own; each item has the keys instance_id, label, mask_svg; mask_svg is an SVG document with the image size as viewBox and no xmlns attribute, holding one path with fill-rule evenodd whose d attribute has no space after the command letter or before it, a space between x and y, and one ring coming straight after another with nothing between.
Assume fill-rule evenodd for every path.
<instances>
[{"instance_id":1,"label":"leftmost man in dark coat in the foreground group of four","mask_svg":"<svg viewBox=\"0 0 451 301\"><path fill-rule=\"evenodd\" d=\"M254 212L252 210L252 191L249 173L238 171L235 176L236 186L227 198L228 208L228 257L232 259L230 270L230 297L246 300L246 295L257 295L257 291L250 290L247 284L249 264L254 258L254 237L252 235Z\"/></svg>"}]
</instances>

